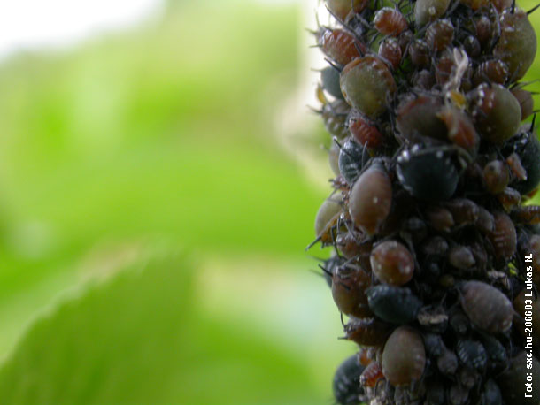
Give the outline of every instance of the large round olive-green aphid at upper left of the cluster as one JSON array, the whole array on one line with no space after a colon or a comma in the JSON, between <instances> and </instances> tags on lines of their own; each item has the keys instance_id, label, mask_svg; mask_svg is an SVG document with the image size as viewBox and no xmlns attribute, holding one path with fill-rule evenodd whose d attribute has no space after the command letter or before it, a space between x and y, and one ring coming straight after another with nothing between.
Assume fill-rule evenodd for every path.
<instances>
[{"instance_id":1,"label":"large round olive-green aphid at upper left of the cluster","mask_svg":"<svg viewBox=\"0 0 540 405\"><path fill-rule=\"evenodd\" d=\"M359 57L346 65L341 73L340 86L347 103L369 118L376 118L386 111L387 100L397 90L388 66L371 55Z\"/></svg>"}]
</instances>

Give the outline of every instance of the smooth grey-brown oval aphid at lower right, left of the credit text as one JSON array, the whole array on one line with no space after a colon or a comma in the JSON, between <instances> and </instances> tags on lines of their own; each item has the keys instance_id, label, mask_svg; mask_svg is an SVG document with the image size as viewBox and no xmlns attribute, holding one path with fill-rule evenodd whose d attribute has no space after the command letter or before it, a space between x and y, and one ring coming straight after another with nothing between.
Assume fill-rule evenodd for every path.
<instances>
[{"instance_id":1,"label":"smooth grey-brown oval aphid at lower right, left of the credit text","mask_svg":"<svg viewBox=\"0 0 540 405\"><path fill-rule=\"evenodd\" d=\"M460 302L473 325L484 332L506 332L512 326L512 302L489 284L467 281L461 287Z\"/></svg>"}]
</instances>

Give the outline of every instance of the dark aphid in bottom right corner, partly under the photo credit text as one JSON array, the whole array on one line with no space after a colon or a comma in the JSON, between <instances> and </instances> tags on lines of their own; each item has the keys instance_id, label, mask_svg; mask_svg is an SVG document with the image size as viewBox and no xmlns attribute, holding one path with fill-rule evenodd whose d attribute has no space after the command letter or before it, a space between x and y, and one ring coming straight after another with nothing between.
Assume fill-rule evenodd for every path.
<instances>
[{"instance_id":1,"label":"dark aphid in bottom right corner, partly under the photo credit text","mask_svg":"<svg viewBox=\"0 0 540 405\"><path fill-rule=\"evenodd\" d=\"M529 360L528 355L524 351L515 355L510 361L510 364L508 364L508 368L496 378L505 403L512 405L528 405L530 403L535 403L537 398L540 398L539 370L540 363L536 360L534 355L529 357ZM535 399L535 401L532 402L530 401L530 398L526 398L523 393L523 385L528 373L530 373L529 375L532 377L532 380L530 381L531 391L528 392L528 394L531 395L531 398Z\"/></svg>"}]
</instances>

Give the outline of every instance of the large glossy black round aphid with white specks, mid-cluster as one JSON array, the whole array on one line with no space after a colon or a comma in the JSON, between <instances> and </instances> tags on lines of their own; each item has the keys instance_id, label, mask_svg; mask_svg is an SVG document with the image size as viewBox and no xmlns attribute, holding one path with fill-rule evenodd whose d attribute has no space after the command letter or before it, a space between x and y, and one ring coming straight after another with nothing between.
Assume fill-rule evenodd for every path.
<instances>
[{"instance_id":1,"label":"large glossy black round aphid with white specks, mid-cluster","mask_svg":"<svg viewBox=\"0 0 540 405\"><path fill-rule=\"evenodd\" d=\"M448 200L456 191L459 172L444 149L405 149L397 157L397 179L416 198Z\"/></svg>"}]
</instances>

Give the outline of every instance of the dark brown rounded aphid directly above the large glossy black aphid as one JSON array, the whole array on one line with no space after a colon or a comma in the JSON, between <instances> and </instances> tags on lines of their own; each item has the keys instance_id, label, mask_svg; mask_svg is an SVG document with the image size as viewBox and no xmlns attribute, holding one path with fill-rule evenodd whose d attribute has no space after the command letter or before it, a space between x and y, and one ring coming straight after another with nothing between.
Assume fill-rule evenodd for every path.
<instances>
[{"instance_id":1,"label":"dark brown rounded aphid directly above the large glossy black aphid","mask_svg":"<svg viewBox=\"0 0 540 405\"><path fill-rule=\"evenodd\" d=\"M445 139L446 126L438 117L442 107L439 97L405 97L397 108L397 130L409 141L420 141L424 136Z\"/></svg>"}]
</instances>

